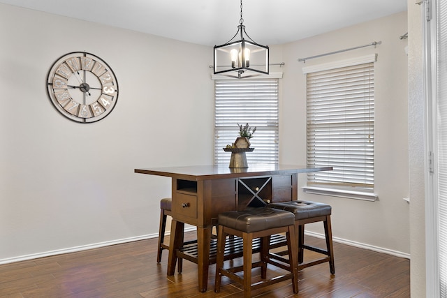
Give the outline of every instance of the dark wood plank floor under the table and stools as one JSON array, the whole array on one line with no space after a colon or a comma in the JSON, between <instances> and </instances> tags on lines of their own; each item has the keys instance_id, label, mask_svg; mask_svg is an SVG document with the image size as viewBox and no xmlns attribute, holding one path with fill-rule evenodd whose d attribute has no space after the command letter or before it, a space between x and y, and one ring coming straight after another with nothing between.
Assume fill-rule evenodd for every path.
<instances>
[{"instance_id":1,"label":"dark wood plank floor under the table and stools","mask_svg":"<svg viewBox=\"0 0 447 298\"><path fill-rule=\"evenodd\" d=\"M307 239L322 243L321 239ZM288 281L253 295L410 297L409 260L344 244L334 246L335 275L325 263L300 271L298 295L293 295ZM166 276L167 258L165 251L161 264L156 264L156 239L148 239L1 265L0 297L241 297L240 285L226 278L221 292L214 293L214 265L205 293L198 292L197 267L191 262L184 261L182 274Z\"/></svg>"}]
</instances>

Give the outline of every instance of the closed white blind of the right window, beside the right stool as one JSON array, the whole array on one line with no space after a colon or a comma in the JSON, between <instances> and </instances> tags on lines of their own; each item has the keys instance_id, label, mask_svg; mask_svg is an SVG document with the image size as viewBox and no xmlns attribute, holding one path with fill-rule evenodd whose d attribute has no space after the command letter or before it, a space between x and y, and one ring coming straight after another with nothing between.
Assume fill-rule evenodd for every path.
<instances>
[{"instance_id":1,"label":"closed white blind of the right window, beside the right stool","mask_svg":"<svg viewBox=\"0 0 447 298\"><path fill-rule=\"evenodd\" d=\"M308 185L374 187L374 64L307 73Z\"/></svg>"}]
</instances>

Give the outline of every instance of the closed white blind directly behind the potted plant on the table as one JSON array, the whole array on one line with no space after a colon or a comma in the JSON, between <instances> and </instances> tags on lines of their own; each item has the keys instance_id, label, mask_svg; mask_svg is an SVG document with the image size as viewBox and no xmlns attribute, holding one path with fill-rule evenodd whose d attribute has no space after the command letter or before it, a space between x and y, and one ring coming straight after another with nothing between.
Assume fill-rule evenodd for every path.
<instances>
[{"instance_id":1,"label":"closed white blind directly behind the potted plant on the table","mask_svg":"<svg viewBox=\"0 0 447 298\"><path fill-rule=\"evenodd\" d=\"M214 81L214 163L230 163L237 124L256 126L247 163L278 163L278 79Z\"/></svg>"}]
</instances>

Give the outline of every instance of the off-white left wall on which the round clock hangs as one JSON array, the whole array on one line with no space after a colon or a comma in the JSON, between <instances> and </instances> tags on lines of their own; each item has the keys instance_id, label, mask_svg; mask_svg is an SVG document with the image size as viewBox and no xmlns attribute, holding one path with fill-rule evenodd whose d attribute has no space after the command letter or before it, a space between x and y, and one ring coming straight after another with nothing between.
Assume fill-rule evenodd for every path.
<instances>
[{"instance_id":1,"label":"off-white left wall on which the round clock hangs","mask_svg":"<svg viewBox=\"0 0 447 298\"><path fill-rule=\"evenodd\" d=\"M158 232L170 179L135 167L212 163L208 47L0 4L0 262ZM62 54L115 71L115 110L57 112L45 80Z\"/></svg>"}]
</instances>

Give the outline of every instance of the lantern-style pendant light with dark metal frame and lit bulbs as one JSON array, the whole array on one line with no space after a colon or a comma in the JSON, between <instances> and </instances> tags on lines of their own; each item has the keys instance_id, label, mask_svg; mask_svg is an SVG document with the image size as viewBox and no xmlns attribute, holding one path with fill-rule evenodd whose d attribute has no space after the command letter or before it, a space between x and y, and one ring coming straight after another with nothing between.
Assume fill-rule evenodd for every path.
<instances>
[{"instance_id":1,"label":"lantern-style pendant light with dark metal frame and lit bulbs","mask_svg":"<svg viewBox=\"0 0 447 298\"><path fill-rule=\"evenodd\" d=\"M233 41L240 34L240 40ZM244 38L244 35L248 39ZM214 74L242 79L268 75L268 46L259 45L245 32L240 0L240 21L235 36L223 45L214 46Z\"/></svg>"}]
</instances>

